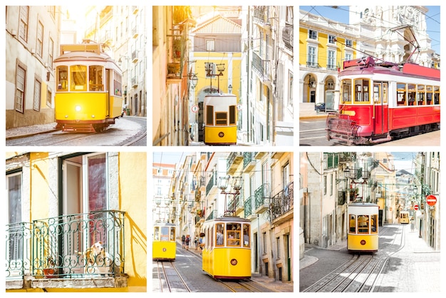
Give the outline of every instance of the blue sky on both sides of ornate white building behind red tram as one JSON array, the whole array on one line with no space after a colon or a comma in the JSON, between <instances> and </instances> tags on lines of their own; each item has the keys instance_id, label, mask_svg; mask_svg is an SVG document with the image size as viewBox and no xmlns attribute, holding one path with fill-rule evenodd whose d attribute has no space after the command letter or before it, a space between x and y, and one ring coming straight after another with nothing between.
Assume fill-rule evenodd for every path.
<instances>
[{"instance_id":1,"label":"blue sky on both sides of ornate white building behind red tram","mask_svg":"<svg viewBox=\"0 0 446 298\"><path fill-rule=\"evenodd\" d=\"M333 21L348 24L348 6L299 6L303 11L323 16ZM440 54L440 6L426 6L429 11L426 14L427 34L431 38L431 46Z\"/></svg>"}]
</instances>

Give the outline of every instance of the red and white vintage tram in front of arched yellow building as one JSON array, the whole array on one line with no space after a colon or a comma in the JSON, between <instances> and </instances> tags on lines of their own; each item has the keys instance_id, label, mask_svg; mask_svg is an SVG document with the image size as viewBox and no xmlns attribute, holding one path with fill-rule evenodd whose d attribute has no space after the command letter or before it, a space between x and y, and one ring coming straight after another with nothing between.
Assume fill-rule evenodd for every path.
<instances>
[{"instance_id":1,"label":"red and white vintage tram in front of arched yellow building","mask_svg":"<svg viewBox=\"0 0 446 298\"><path fill-rule=\"evenodd\" d=\"M413 63L344 61L338 113L328 113L327 139L382 143L440 128L440 70Z\"/></svg>"}]
</instances>

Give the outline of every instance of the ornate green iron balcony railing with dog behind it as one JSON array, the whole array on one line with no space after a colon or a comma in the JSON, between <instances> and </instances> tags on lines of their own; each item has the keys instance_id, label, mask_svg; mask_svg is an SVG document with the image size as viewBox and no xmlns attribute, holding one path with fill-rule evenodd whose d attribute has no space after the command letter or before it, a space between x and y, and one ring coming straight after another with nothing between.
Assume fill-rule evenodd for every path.
<instances>
[{"instance_id":1,"label":"ornate green iron balcony railing with dog behind it","mask_svg":"<svg viewBox=\"0 0 446 298\"><path fill-rule=\"evenodd\" d=\"M6 225L6 278L124 274L124 215L105 210Z\"/></svg>"}]
</instances>

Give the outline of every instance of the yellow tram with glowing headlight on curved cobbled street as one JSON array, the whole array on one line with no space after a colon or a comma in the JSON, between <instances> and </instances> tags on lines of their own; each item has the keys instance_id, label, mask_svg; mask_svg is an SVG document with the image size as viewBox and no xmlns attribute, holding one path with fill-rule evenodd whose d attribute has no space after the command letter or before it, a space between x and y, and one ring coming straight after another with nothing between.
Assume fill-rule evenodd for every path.
<instances>
[{"instance_id":1,"label":"yellow tram with glowing headlight on curved cobbled street","mask_svg":"<svg viewBox=\"0 0 446 298\"><path fill-rule=\"evenodd\" d=\"M122 73L102 45L61 45L56 67L55 118L63 131L100 132L122 115Z\"/></svg>"}]
</instances>

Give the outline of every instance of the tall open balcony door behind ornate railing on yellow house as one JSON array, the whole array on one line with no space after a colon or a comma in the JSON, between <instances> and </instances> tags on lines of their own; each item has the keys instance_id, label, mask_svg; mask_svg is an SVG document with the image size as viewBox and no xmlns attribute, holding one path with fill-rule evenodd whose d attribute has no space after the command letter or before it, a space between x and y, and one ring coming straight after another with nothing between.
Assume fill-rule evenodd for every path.
<instances>
[{"instance_id":1,"label":"tall open balcony door behind ornate railing on yellow house","mask_svg":"<svg viewBox=\"0 0 446 298\"><path fill-rule=\"evenodd\" d=\"M62 171L63 264L74 264L64 267L63 272L83 273L82 252L95 242L107 242L103 214L95 213L107 209L106 154L67 158Z\"/></svg>"}]
</instances>

